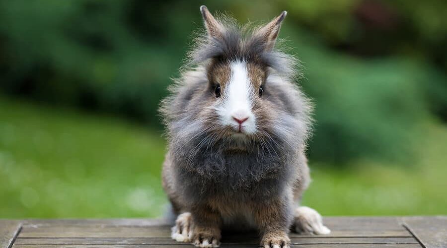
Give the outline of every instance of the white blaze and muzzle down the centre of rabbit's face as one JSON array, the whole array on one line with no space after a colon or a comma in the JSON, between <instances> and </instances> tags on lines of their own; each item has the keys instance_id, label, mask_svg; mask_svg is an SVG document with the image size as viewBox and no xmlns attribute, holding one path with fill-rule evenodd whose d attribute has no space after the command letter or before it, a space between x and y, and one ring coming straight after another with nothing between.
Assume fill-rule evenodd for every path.
<instances>
[{"instance_id":1,"label":"white blaze and muzzle down the centre of rabbit's face","mask_svg":"<svg viewBox=\"0 0 447 248\"><path fill-rule=\"evenodd\" d=\"M231 78L224 90L224 104L217 109L218 114L223 125L229 125L242 133L254 133L256 120L251 111L253 87L246 63L231 62L230 68Z\"/></svg>"}]
</instances>

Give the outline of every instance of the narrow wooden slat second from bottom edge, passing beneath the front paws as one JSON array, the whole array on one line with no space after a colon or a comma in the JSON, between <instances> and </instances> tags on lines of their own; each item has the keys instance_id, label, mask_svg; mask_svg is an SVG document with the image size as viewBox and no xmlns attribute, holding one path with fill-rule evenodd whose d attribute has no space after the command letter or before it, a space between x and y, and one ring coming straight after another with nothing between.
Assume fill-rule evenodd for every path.
<instances>
[{"instance_id":1,"label":"narrow wooden slat second from bottom edge, passing beneath the front paws","mask_svg":"<svg viewBox=\"0 0 447 248\"><path fill-rule=\"evenodd\" d=\"M224 238L223 244L253 244L259 243L259 238L239 238L237 240ZM169 245L179 244L168 238L18 238L16 245ZM413 237L408 238L293 238L292 244L418 244Z\"/></svg>"}]
</instances>

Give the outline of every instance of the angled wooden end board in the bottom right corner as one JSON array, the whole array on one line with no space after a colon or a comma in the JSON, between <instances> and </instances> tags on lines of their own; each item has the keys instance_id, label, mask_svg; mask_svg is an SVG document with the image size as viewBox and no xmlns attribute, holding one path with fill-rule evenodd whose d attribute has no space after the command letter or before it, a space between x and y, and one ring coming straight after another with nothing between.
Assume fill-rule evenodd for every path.
<instances>
[{"instance_id":1,"label":"angled wooden end board in the bottom right corner","mask_svg":"<svg viewBox=\"0 0 447 248\"><path fill-rule=\"evenodd\" d=\"M402 221L426 248L447 247L447 216L404 217Z\"/></svg>"}]
</instances>

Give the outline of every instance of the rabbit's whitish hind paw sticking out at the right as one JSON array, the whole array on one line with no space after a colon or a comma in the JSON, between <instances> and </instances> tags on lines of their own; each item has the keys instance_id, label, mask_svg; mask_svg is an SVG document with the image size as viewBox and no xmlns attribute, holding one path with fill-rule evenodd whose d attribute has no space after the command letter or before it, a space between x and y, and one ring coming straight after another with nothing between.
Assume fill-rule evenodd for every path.
<instances>
[{"instance_id":1,"label":"rabbit's whitish hind paw sticking out at the right","mask_svg":"<svg viewBox=\"0 0 447 248\"><path fill-rule=\"evenodd\" d=\"M295 231L305 234L330 234L331 230L323 225L321 215L310 207L298 207L295 210Z\"/></svg>"}]
</instances>

